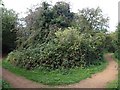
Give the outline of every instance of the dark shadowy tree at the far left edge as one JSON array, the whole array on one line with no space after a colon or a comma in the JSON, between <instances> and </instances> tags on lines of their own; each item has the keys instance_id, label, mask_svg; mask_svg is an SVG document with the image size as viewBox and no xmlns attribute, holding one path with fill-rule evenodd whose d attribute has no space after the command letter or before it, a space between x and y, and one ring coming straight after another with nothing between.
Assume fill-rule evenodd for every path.
<instances>
[{"instance_id":1,"label":"dark shadowy tree at the far left edge","mask_svg":"<svg viewBox=\"0 0 120 90\"><path fill-rule=\"evenodd\" d=\"M2 53L15 49L17 14L2 8Z\"/></svg>"}]
</instances>

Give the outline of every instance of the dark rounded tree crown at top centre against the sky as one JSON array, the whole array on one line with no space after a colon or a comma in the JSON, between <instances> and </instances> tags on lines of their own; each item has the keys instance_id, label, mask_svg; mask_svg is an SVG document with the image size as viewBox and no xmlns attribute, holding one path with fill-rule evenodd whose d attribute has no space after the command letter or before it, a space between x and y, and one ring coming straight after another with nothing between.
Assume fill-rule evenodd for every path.
<instances>
[{"instance_id":1,"label":"dark rounded tree crown at top centre against the sky","mask_svg":"<svg viewBox=\"0 0 120 90\"><path fill-rule=\"evenodd\" d=\"M57 2L53 6L54 19L52 20L54 24L59 28L70 27L71 22L74 18L74 13L70 11L70 5L66 2Z\"/></svg>"}]
</instances>

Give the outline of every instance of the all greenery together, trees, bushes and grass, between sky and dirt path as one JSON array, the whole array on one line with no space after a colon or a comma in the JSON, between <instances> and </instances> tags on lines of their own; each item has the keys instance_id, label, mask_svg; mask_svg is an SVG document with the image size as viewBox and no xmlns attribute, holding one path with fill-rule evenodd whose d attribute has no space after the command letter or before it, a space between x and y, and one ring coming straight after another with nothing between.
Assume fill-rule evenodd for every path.
<instances>
[{"instance_id":1,"label":"all greenery together, trees, bushes and grass, between sky and dirt path","mask_svg":"<svg viewBox=\"0 0 120 90\"><path fill-rule=\"evenodd\" d=\"M2 14L2 53L10 52L3 67L30 80L75 83L105 68L104 53L120 60L120 24L108 32L109 18L99 7L74 13L66 2L43 2L22 19L5 7Z\"/></svg>"}]
</instances>

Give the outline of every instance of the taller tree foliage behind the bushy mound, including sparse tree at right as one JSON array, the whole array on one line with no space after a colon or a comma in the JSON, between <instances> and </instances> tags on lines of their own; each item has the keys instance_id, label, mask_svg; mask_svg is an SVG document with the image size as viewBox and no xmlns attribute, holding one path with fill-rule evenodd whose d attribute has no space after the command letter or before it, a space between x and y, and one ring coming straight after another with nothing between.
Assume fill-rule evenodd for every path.
<instances>
[{"instance_id":1,"label":"taller tree foliage behind the bushy mound, including sparse tree at right","mask_svg":"<svg viewBox=\"0 0 120 90\"><path fill-rule=\"evenodd\" d=\"M20 49L30 46L36 47L37 44L53 40L54 33L60 28L64 30L68 27L74 27L80 32L95 34L95 31L107 29L108 25L108 18L103 17L100 8L87 8L79 13L73 13L69 3L63 1L56 2L53 6L47 2L42 2L29 9L24 20L26 27L19 30L23 31L24 34L21 32L22 35L17 40L17 47Z\"/></svg>"}]
</instances>

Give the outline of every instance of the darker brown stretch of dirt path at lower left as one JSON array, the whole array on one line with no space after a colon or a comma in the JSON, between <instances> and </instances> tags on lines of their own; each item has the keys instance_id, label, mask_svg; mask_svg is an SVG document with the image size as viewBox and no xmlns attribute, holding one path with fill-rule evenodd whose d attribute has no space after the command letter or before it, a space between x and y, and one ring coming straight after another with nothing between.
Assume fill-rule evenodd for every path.
<instances>
[{"instance_id":1,"label":"darker brown stretch of dirt path at lower left","mask_svg":"<svg viewBox=\"0 0 120 90\"><path fill-rule=\"evenodd\" d=\"M42 88L45 85L27 80L24 77L16 76L6 69L2 69L3 79L9 82L14 88Z\"/></svg>"}]
</instances>

